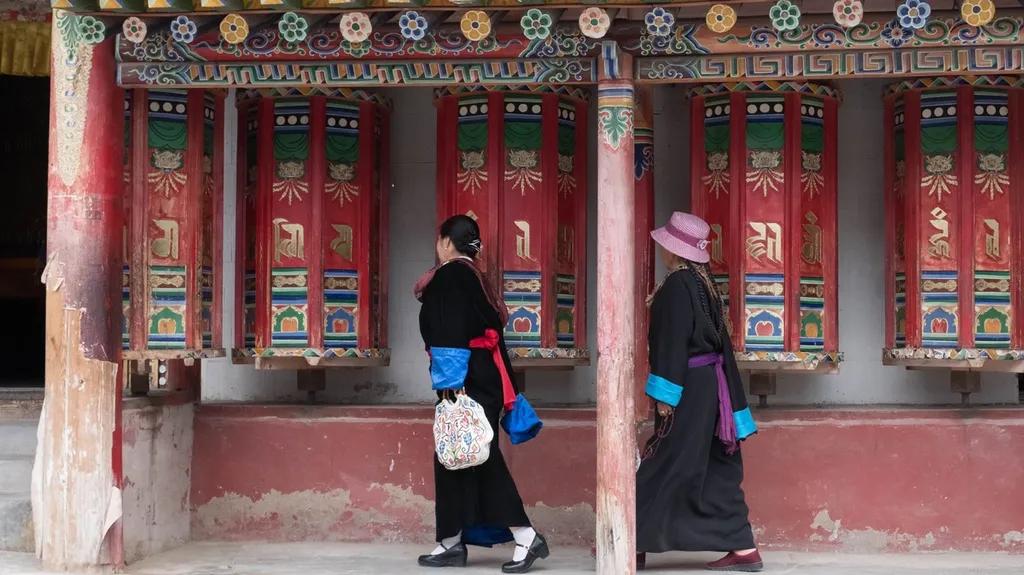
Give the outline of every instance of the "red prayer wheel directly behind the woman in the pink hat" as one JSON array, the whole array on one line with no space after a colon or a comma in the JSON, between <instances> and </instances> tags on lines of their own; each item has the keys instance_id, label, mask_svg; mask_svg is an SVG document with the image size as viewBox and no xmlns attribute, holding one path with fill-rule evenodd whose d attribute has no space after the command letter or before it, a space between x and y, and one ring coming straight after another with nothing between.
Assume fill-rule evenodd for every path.
<instances>
[{"instance_id":1,"label":"red prayer wheel directly behind the woman in the pink hat","mask_svg":"<svg viewBox=\"0 0 1024 575\"><path fill-rule=\"evenodd\" d=\"M766 82L691 96L691 206L712 228L740 368L835 371L839 93Z\"/></svg>"}]
</instances>

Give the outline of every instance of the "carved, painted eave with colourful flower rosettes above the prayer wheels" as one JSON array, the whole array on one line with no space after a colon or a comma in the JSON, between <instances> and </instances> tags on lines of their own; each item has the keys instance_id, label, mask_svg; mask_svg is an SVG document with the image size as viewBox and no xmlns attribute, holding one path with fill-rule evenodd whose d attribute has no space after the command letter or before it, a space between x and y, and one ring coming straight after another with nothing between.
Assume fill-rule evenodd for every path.
<instances>
[{"instance_id":1,"label":"carved, painted eave with colourful flower rosettes above the prayer wheels","mask_svg":"<svg viewBox=\"0 0 1024 575\"><path fill-rule=\"evenodd\" d=\"M890 7L865 12L850 28L833 13L803 14L782 32L769 17L770 2L719 5L736 6L739 14L728 30L716 26L719 32L709 26L710 15L706 18L709 7L692 2L55 0L53 5L120 32L119 80L126 87L588 85L596 83L601 45L609 41L636 58L636 80L643 83L1020 74L1024 68L1024 9L1000 7L988 24L971 26L950 2L936 3L921 28L903 28ZM599 9L607 29L585 31L585 9ZM655 9L671 26L645 21ZM471 19L485 25L461 26L471 10L480 14ZM133 26L123 29L126 18L134 18ZM527 20L540 28L527 30ZM365 36L353 33L353 21ZM182 25L177 34L174 23Z\"/></svg>"}]
</instances>

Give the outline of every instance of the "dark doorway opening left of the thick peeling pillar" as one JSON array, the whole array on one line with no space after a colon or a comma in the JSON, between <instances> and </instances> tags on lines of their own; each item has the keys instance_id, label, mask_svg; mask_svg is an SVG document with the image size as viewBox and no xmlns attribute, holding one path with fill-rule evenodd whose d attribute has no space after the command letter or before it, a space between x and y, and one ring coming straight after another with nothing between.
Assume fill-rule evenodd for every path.
<instances>
[{"instance_id":1,"label":"dark doorway opening left of the thick peeling pillar","mask_svg":"<svg viewBox=\"0 0 1024 575\"><path fill-rule=\"evenodd\" d=\"M48 78L0 76L0 388L43 385Z\"/></svg>"}]
</instances>

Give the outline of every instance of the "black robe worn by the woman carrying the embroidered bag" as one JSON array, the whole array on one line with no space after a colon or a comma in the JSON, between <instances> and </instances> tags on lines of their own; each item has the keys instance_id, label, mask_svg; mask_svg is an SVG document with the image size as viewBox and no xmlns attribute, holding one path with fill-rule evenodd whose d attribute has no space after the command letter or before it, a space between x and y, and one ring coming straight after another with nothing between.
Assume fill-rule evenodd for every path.
<instances>
[{"instance_id":1,"label":"black robe worn by the woman carrying the embroidered bag","mask_svg":"<svg viewBox=\"0 0 1024 575\"><path fill-rule=\"evenodd\" d=\"M467 264L450 262L438 268L423 292L422 302L420 334L428 349L469 349L470 340L482 336L484 329L489 327L499 334L504 329L476 273ZM499 346L506 369L511 373L504 338ZM530 524L499 446L498 418L504 396L501 374L490 351L470 352L465 390L483 407L495 440L487 460L473 468L450 471L434 456L437 540L462 531L463 541L470 544L511 541L509 527Z\"/></svg>"}]
</instances>

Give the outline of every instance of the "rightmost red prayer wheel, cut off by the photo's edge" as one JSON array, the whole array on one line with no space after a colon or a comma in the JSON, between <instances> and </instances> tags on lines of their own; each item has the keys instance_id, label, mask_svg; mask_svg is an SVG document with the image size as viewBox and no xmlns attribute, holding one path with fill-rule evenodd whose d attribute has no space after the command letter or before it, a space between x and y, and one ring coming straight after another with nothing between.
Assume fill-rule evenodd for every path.
<instances>
[{"instance_id":1,"label":"rightmost red prayer wheel, cut off by the photo's edge","mask_svg":"<svg viewBox=\"0 0 1024 575\"><path fill-rule=\"evenodd\" d=\"M886 363L1019 369L1022 104L1019 78L886 90Z\"/></svg>"}]
</instances>

